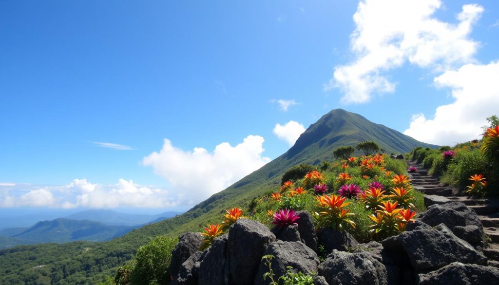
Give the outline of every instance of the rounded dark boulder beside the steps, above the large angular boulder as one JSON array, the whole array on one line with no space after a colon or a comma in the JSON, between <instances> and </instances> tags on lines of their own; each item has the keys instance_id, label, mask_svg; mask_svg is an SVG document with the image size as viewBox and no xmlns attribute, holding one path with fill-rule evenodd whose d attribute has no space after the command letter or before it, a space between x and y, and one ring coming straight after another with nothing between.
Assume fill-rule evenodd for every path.
<instances>
[{"instance_id":1,"label":"rounded dark boulder beside the steps, above the large angular boulder","mask_svg":"<svg viewBox=\"0 0 499 285\"><path fill-rule=\"evenodd\" d=\"M419 220L432 227L445 224L451 230L454 230L456 226L466 226L465 213L458 212L444 205L432 205L428 207L428 211L419 215Z\"/></svg>"}]
</instances>

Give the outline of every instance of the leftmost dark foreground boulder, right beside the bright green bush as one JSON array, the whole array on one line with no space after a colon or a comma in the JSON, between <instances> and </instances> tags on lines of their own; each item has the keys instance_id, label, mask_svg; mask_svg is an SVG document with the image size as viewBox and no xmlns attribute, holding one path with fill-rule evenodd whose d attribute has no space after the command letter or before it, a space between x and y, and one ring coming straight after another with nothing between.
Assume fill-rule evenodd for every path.
<instances>
[{"instance_id":1,"label":"leftmost dark foreground boulder, right beside the bright green bush","mask_svg":"<svg viewBox=\"0 0 499 285\"><path fill-rule=\"evenodd\" d=\"M201 233L189 232L179 237L179 243L172 251L172 262L168 269L171 276L177 276L182 264L199 249L202 242Z\"/></svg>"}]
</instances>

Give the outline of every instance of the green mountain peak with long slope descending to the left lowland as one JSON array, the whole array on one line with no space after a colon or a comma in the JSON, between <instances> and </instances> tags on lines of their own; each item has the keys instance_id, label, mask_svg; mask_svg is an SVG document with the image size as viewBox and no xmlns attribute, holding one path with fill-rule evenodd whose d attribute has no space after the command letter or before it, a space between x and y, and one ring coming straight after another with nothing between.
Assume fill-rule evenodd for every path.
<instances>
[{"instance_id":1,"label":"green mountain peak with long slope descending to the left lowland","mask_svg":"<svg viewBox=\"0 0 499 285\"><path fill-rule=\"evenodd\" d=\"M332 159L332 152L342 145L356 145L365 140L374 140L388 153L405 153L417 146L437 147L419 142L393 129L375 124L364 117L341 109L332 110L312 124L286 153L272 160L224 191L213 195L188 212L175 218L150 224L118 239L106 243L95 243L91 250L75 252L75 246L67 244L71 254L60 255L47 265L52 270L52 280L57 284L96 284L103 277L114 274L115 267L131 259L141 245L157 235L178 236L187 231L200 231L211 222L220 222L224 209L244 206L253 197L259 197L269 189L280 186L280 178L286 169L300 163L318 163ZM51 245L24 246L0 252L0 268L17 264L15 273L0 272L1 284L21 282L32 275L32 267L41 264L46 258L44 247ZM50 250L48 248L47 250ZM64 247L61 248L64 250ZM22 259L30 251L32 259ZM37 252L39 254L34 254ZM65 265L71 264L74 273L67 274ZM92 271L91 269L95 270ZM9 270L7 269L7 270ZM96 271L99 269L100 271ZM62 278L61 278L62 277Z\"/></svg>"}]
</instances>

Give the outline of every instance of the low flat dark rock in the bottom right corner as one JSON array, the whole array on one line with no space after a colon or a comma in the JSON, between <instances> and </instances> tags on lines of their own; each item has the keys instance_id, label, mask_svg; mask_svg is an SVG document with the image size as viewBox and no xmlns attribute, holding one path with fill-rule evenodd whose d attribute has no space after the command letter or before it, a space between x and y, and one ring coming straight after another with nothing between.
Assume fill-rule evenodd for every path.
<instances>
[{"instance_id":1,"label":"low flat dark rock in the bottom right corner","mask_svg":"<svg viewBox=\"0 0 499 285\"><path fill-rule=\"evenodd\" d=\"M437 271L419 275L420 285L497 284L499 269L475 264L451 263Z\"/></svg>"}]
</instances>

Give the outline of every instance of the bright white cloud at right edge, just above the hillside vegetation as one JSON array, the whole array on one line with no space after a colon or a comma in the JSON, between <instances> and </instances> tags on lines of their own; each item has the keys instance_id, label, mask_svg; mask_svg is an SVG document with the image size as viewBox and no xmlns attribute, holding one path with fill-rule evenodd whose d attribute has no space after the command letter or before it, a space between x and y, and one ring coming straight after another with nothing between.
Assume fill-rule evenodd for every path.
<instances>
[{"instance_id":1,"label":"bright white cloud at right edge, just above the hillside vegetation","mask_svg":"<svg viewBox=\"0 0 499 285\"><path fill-rule=\"evenodd\" d=\"M486 118L498 114L499 61L466 64L434 79L439 88L451 88L455 101L437 108L433 119L413 116L404 134L420 141L453 145L478 138Z\"/></svg>"}]
</instances>

